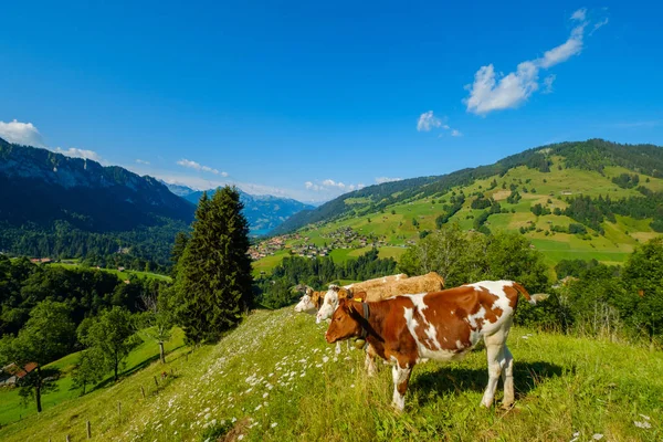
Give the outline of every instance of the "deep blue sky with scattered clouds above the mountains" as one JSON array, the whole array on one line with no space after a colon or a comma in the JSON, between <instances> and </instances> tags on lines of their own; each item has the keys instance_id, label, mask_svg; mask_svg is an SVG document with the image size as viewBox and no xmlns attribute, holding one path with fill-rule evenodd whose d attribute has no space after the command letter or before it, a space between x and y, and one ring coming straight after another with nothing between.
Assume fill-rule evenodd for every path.
<instances>
[{"instance_id":1,"label":"deep blue sky with scattered clouds above the mountains","mask_svg":"<svg viewBox=\"0 0 663 442\"><path fill-rule=\"evenodd\" d=\"M663 145L656 2L94 3L3 6L0 136L303 201Z\"/></svg>"}]
</instances>

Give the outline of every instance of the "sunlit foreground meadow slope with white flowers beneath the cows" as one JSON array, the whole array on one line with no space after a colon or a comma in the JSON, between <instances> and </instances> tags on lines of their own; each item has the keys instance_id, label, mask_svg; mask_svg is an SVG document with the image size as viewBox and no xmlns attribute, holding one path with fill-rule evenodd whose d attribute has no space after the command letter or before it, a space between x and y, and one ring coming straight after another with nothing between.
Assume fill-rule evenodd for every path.
<instances>
[{"instance_id":1,"label":"sunlit foreground meadow slope with white flowers beneath the cows","mask_svg":"<svg viewBox=\"0 0 663 442\"><path fill-rule=\"evenodd\" d=\"M290 308L259 311L217 346L168 368L158 364L76 401L0 430L0 440L212 441L232 431L249 441L569 441L663 438L663 354L621 344L515 328L515 408L482 409L485 351L413 370L403 414L391 410L391 372L368 379L358 350L336 357L324 325ZM140 386L148 389L141 398ZM498 396L501 392L498 393ZM117 402L122 402L118 415ZM642 417L644 414L649 419ZM646 421L651 428L638 428Z\"/></svg>"}]
</instances>

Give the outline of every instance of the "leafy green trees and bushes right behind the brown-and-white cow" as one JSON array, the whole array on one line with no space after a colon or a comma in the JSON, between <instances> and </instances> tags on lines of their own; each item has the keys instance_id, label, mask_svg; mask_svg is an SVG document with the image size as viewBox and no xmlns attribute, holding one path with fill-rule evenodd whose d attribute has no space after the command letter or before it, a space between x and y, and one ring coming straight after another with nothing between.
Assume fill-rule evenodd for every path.
<instances>
[{"instance_id":1,"label":"leafy green trees and bushes right behind the brown-and-white cow","mask_svg":"<svg viewBox=\"0 0 663 442\"><path fill-rule=\"evenodd\" d=\"M517 233L487 235L444 225L408 249L399 271L431 271L453 287L482 280L514 280L529 293L549 297L536 307L523 303L516 322L522 325L583 333L663 338L663 238L636 249L623 267L598 261L562 260L555 271L560 283L551 285L540 252Z\"/></svg>"}]
</instances>

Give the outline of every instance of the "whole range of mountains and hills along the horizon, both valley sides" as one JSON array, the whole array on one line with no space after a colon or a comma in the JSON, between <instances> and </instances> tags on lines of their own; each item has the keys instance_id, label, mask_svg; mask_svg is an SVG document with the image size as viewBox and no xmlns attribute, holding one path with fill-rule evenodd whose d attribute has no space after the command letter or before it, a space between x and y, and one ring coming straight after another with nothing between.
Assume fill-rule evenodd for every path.
<instances>
[{"instance_id":1,"label":"whole range of mountains and hills along the horizon, both valley sides","mask_svg":"<svg viewBox=\"0 0 663 442\"><path fill-rule=\"evenodd\" d=\"M120 250L134 267L166 267L201 193L0 139L0 252L117 261ZM663 232L663 149L601 139L541 146L488 166L367 187L317 208L241 198L253 234L304 229L320 246L323 235L349 227L402 248L453 221L520 231L558 257L564 249L565 256L579 251L620 262Z\"/></svg>"}]
</instances>

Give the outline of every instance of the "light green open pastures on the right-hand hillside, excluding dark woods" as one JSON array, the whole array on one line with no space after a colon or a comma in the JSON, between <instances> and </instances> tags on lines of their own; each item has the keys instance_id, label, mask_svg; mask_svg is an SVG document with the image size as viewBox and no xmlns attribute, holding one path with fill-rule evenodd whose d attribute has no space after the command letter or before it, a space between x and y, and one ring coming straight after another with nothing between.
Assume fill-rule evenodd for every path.
<instances>
[{"instance_id":1,"label":"light green open pastures on the right-hand hillside, excluding dark woods","mask_svg":"<svg viewBox=\"0 0 663 442\"><path fill-rule=\"evenodd\" d=\"M486 222L486 227L492 231L518 231L520 227L534 223L536 230L527 232L525 235L544 253L547 264L551 267L564 259L597 259L606 264L622 264L639 243L659 235L650 228L651 220L634 220L621 215L617 215L615 223L603 222L604 235L594 236L590 234L587 239L581 239L575 234L551 232L550 228L552 225L568 227L569 223L577 221L565 215L536 217L530 211L534 204L540 203L552 211L555 208L566 208L565 199L578 194L610 196L611 199L631 196L642 197L634 189L622 189L612 182L612 178L620 173L632 173L628 169L614 166L606 167L603 175L581 169L562 168L560 170L558 166L564 165L564 159L552 157L551 160L550 172L544 173L538 169L520 166L509 169L504 177L495 175L476 180L470 186L453 188L452 191L455 193L462 190L466 196L466 200L463 208L451 218L450 222L457 222L464 230L473 229L474 218L483 212L483 210L471 208L472 201L476 198L473 193L483 192L486 198L492 197L498 201L503 211L507 211L507 213L492 214ZM644 175L640 175L640 177L642 186L653 191L663 189L663 179L649 177L649 182L645 182L648 177ZM493 180L496 180L498 186L488 190ZM502 188L503 182L506 185L506 189ZM518 186L517 190L523 197L516 204L506 202L512 183ZM523 191L524 187L527 188L527 192ZM533 188L536 190L535 193L532 192ZM301 232L309 238L308 243L323 245L326 241L329 241L325 235L339 228L350 227L362 235L373 234L386 238L387 243L390 245L380 248L380 255L393 256L398 260L404 252L404 249L399 246L404 245L409 240L417 241L419 233L423 230L432 231L436 229L435 218L442 213L442 207L444 206L441 201L448 203L452 191L399 202L387 207L383 212L359 211L322 225L305 227ZM356 203L355 199L346 200L346 204ZM512 209L515 213L511 212ZM412 224L413 219L419 222L419 228ZM589 228L588 230L592 233ZM546 235L546 231L548 231L548 235ZM303 240L291 241L292 244L302 242ZM344 261L358 256L368 249L335 250L330 255L335 261L337 259ZM255 262L254 265L269 272L280 262L280 257L269 256Z\"/></svg>"}]
</instances>

